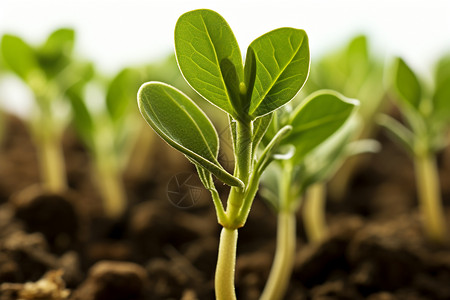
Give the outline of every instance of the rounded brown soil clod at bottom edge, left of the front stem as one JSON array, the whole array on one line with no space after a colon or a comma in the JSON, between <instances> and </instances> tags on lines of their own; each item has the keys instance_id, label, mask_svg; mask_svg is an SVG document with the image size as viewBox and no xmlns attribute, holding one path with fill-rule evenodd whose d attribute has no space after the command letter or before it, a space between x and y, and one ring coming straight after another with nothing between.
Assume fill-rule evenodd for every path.
<instances>
[{"instance_id":1,"label":"rounded brown soil clod at bottom edge, left of the front stem","mask_svg":"<svg viewBox=\"0 0 450 300\"><path fill-rule=\"evenodd\" d=\"M129 262L101 261L89 270L72 300L141 299L148 276L144 268Z\"/></svg>"}]
</instances>

